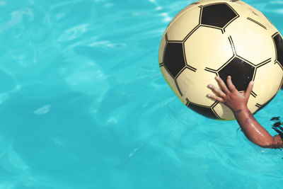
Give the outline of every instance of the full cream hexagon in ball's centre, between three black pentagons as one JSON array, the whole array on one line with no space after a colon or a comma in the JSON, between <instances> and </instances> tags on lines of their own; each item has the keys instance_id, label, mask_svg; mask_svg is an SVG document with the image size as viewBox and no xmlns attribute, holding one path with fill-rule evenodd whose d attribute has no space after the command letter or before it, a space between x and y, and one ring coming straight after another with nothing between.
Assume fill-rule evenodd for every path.
<instances>
[{"instance_id":1,"label":"full cream hexagon in ball's centre, between three black pentagons","mask_svg":"<svg viewBox=\"0 0 283 189\"><path fill-rule=\"evenodd\" d=\"M196 69L219 69L233 57L228 37L221 30L201 26L185 41L187 64Z\"/></svg>"}]
</instances>

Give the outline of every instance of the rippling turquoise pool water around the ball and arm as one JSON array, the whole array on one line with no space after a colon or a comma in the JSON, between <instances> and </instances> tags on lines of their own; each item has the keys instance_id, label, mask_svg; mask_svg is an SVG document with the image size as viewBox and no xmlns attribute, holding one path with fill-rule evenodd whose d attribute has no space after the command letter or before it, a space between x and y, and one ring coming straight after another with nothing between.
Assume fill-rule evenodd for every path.
<instances>
[{"instance_id":1,"label":"rippling turquoise pool water around the ball and arm","mask_svg":"<svg viewBox=\"0 0 283 189\"><path fill-rule=\"evenodd\" d=\"M246 1L283 33L283 1ZM192 1L0 1L0 188L282 188L283 151L173 94L158 67ZM255 116L271 133L283 92Z\"/></svg>"}]
</instances>

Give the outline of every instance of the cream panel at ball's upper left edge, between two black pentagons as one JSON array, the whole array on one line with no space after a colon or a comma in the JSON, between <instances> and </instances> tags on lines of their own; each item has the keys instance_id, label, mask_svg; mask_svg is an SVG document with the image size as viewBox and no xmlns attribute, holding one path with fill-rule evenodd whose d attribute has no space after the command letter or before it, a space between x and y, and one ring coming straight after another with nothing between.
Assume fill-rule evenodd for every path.
<instances>
[{"instance_id":1,"label":"cream panel at ball's upper left edge, between two black pentagons","mask_svg":"<svg viewBox=\"0 0 283 189\"><path fill-rule=\"evenodd\" d=\"M168 40L184 40L187 34L199 24L200 8L194 6L189 10L184 11L181 16L168 26Z\"/></svg>"}]
</instances>

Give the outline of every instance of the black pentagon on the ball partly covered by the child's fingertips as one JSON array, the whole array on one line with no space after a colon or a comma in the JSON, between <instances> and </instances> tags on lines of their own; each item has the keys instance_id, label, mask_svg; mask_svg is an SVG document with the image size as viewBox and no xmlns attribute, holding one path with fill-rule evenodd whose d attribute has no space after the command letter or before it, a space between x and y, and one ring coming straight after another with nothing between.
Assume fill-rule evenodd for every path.
<instances>
[{"instance_id":1,"label":"black pentagon on the ball partly covered by the child's fingertips","mask_svg":"<svg viewBox=\"0 0 283 189\"><path fill-rule=\"evenodd\" d=\"M246 63L242 59L235 57L223 67L219 72L219 76L227 85L227 76L231 76L234 86L238 91L246 91L248 84L253 79L253 72L255 67Z\"/></svg>"}]
</instances>

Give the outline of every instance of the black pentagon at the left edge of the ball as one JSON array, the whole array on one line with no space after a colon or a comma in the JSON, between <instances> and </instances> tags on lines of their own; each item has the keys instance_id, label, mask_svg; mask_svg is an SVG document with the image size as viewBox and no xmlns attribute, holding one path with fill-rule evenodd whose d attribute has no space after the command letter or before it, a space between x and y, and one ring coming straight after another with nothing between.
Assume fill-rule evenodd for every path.
<instances>
[{"instance_id":1,"label":"black pentagon at the left edge of the ball","mask_svg":"<svg viewBox=\"0 0 283 189\"><path fill-rule=\"evenodd\" d=\"M168 42L164 52L163 59L164 66L175 78L185 67L185 57L183 53L183 43L181 42Z\"/></svg>"}]
</instances>

